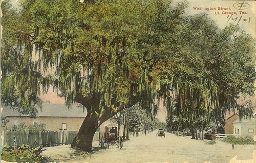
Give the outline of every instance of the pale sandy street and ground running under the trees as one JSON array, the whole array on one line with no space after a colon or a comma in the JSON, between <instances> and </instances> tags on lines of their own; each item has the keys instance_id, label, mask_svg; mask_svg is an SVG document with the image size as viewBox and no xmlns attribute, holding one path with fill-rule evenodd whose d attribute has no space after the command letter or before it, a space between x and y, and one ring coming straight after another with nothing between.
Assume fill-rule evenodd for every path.
<instances>
[{"instance_id":1,"label":"pale sandy street and ground running under the trees","mask_svg":"<svg viewBox=\"0 0 256 163\"><path fill-rule=\"evenodd\" d=\"M156 137L156 132L139 137L131 137L123 143L123 148L117 145L109 149L99 149L98 142L92 153L70 149L69 145L49 147L43 155L63 162L211 162L226 163L234 156L236 159L253 159L255 145L235 145L217 141L214 145L206 144L208 140L190 139L190 136L176 136L165 133L165 137ZM256 160L255 160L256 162Z\"/></svg>"}]
</instances>

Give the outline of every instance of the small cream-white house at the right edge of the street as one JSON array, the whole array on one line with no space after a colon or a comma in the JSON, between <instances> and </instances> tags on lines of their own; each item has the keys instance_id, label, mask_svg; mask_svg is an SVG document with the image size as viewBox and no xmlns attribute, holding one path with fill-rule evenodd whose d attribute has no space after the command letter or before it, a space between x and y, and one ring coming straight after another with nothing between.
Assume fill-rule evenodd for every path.
<instances>
[{"instance_id":1,"label":"small cream-white house at the right edge of the street","mask_svg":"<svg viewBox=\"0 0 256 163\"><path fill-rule=\"evenodd\" d=\"M256 135L256 118L238 119L233 122L233 134L237 136Z\"/></svg>"}]
</instances>

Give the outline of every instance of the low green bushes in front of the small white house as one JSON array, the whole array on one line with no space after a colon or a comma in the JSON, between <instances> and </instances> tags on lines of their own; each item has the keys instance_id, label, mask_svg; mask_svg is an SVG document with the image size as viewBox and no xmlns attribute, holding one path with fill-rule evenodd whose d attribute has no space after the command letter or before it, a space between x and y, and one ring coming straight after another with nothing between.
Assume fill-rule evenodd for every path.
<instances>
[{"instance_id":1,"label":"low green bushes in front of the small white house","mask_svg":"<svg viewBox=\"0 0 256 163\"><path fill-rule=\"evenodd\" d=\"M230 144L238 144L238 145L247 145L247 144L256 144L256 142L253 141L253 138L249 135L245 137L236 137L233 135L228 135L223 140L226 143Z\"/></svg>"}]
</instances>

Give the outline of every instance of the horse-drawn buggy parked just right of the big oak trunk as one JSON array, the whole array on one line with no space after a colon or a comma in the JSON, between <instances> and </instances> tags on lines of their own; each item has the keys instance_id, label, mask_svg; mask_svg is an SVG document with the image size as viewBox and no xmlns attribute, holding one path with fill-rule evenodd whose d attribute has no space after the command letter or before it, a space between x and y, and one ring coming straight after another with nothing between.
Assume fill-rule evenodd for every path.
<instances>
[{"instance_id":1,"label":"horse-drawn buggy parked just right of the big oak trunk","mask_svg":"<svg viewBox=\"0 0 256 163\"><path fill-rule=\"evenodd\" d=\"M99 142L101 148L104 147L104 144L109 148L109 144L117 144L117 146L122 148L122 136L118 137L118 126L115 123L106 124L105 126L104 137L101 137Z\"/></svg>"}]
</instances>

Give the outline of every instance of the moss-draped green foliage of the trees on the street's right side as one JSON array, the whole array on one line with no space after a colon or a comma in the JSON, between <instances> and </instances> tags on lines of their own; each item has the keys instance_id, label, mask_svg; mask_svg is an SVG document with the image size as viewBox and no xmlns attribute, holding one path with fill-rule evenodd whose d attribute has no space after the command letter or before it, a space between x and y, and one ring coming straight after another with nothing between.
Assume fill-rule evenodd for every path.
<instances>
[{"instance_id":1,"label":"moss-draped green foliage of the trees on the street's right side","mask_svg":"<svg viewBox=\"0 0 256 163\"><path fill-rule=\"evenodd\" d=\"M225 113L234 108L241 118L251 117L252 103L240 105L237 99L254 95L252 37L238 26L221 30L206 14L184 17L179 28L177 37L182 38L182 46L173 49L179 53L162 61L166 66L160 66L156 74L162 77L167 127L180 130L224 125ZM165 76L160 75L163 73Z\"/></svg>"}]
</instances>

